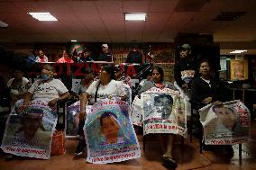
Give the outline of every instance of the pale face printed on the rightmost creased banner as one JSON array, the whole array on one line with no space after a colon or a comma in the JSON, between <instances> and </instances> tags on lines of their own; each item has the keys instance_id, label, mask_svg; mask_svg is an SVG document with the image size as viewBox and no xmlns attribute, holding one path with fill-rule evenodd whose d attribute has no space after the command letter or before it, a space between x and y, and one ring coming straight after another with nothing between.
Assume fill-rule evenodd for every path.
<instances>
[{"instance_id":1,"label":"pale face printed on the rightmost creased banner","mask_svg":"<svg viewBox=\"0 0 256 170\"><path fill-rule=\"evenodd\" d=\"M216 110L216 114L218 115L219 120L223 122L227 129L233 130L236 122L236 117L233 111L226 107L221 107Z\"/></svg>"}]
</instances>

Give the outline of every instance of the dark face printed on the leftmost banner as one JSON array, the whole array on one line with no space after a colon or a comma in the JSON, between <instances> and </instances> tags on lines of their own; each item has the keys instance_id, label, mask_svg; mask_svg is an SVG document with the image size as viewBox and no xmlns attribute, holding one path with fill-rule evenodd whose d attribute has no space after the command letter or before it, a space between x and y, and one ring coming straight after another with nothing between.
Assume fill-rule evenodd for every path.
<instances>
[{"instance_id":1,"label":"dark face printed on the leftmost banner","mask_svg":"<svg viewBox=\"0 0 256 170\"><path fill-rule=\"evenodd\" d=\"M25 117L23 121L24 134L27 139L34 136L41 125L41 118Z\"/></svg>"}]
</instances>

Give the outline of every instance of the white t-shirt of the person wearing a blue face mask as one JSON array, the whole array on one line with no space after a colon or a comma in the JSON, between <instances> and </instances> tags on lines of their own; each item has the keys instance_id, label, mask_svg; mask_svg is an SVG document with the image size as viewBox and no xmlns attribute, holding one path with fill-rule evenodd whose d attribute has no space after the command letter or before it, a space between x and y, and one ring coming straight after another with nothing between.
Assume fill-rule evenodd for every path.
<instances>
[{"instance_id":1,"label":"white t-shirt of the person wearing a blue face mask","mask_svg":"<svg viewBox=\"0 0 256 170\"><path fill-rule=\"evenodd\" d=\"M32 99L50 102L59 98L59 94L64 94L69 90L59 79L52 79L48 83L42 83L41 80L35 81L28 92L33 94Z\"/></svg>"}]
</instances>

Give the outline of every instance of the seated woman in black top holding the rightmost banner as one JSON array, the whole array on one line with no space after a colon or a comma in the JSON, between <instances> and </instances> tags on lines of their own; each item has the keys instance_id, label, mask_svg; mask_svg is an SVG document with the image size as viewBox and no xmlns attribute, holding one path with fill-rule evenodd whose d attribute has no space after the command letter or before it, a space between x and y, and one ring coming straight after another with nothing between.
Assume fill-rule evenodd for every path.
<instances>
[{"instance_id":1,"label":"seated woman in black top holding the rightmost banner","mask_svg":"<svg viewBox=\"0 0 256 170\"><path fill-rule=\"evenodd\" d=\"M209 103L221 105L223 102L231 101L231 93L224 82L212 76L211 66L208 60L199 61L199 76L192 81L191 101L197 109ZM198 124L199 131L202 125ZM206 146L203 148L208 149ZM231 145L224 146L224 152L233 154Z\"/></svg>"}]
</instances>

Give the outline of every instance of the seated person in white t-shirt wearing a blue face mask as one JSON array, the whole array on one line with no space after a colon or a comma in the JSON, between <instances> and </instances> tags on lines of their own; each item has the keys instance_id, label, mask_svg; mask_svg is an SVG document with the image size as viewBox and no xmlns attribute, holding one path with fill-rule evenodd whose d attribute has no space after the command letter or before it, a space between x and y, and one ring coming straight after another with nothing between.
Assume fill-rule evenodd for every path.
<instances>
[{"instance_id":1,"label":"seated person in white t-shirt wearing a blue face mask","mask_svg":"<svg viewBox=\"0 0 256 170\"><path fill-rule=\"evenodd\" d=\"M69 98L69 90L59 79L53 78L54 75L52 66L43 66L41 79L32 84L24 97L23 105L19 106L18 112L23 112L24 109L28 108L33 99L41 99L53 107L57 102Z\"/></svg>"}]
</instances>

